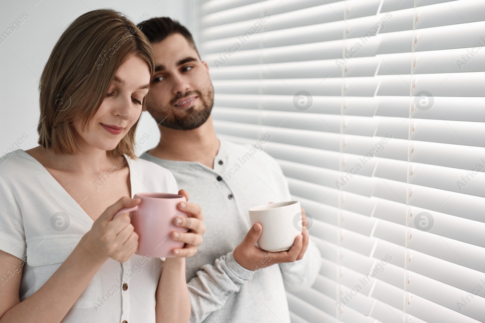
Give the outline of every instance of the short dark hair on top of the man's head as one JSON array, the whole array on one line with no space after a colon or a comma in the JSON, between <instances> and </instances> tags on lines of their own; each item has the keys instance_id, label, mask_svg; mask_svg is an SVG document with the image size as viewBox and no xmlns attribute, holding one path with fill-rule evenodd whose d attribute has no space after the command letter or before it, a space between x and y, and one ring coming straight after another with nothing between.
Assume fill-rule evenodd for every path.
<instances>
[{"instance_id":1,"label":"short dark hair on top of the man's head","mask_svg":"<svg viewBox=\"0 0 485 323\"><path fill-rule=\"evenodd\" d=\"M192 47L194 47L197 55L199 55L192 34L177 20L172 20L169 17L156 17L142 21L137 27L145 34L146 38L148 38L152 44L161 42L171 34L179 33Z\"/></svg>"}]
</instances>

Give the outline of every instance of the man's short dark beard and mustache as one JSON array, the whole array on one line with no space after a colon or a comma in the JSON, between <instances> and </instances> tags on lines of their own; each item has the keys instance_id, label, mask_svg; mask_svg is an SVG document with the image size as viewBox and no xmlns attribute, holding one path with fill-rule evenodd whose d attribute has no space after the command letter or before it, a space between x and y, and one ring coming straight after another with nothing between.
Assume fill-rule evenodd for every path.
<instances>
[{"instance_id":1,"label":"man's short dark beard and mustache","mask_svg":"<svg viewBox=\"0 0 485 323\"><path fill-rule=\"evenodd\" d=\"M212 84L204 90L206 90L204 93L200 91L189 91L179 94L170 100L169 107L163 107L156 102L150 102L147 107L148 112L150 112L157 124L161 124L167 128L177 130L192 130L198 128L207 121L214 104L214 89ZM174 113L174 109L177 109L175 107L177 102L195 96L200 100L200 104L202 105L201 109L195 110L194 107L187 108L182 116Z\"/></svg>"}]
</instances>

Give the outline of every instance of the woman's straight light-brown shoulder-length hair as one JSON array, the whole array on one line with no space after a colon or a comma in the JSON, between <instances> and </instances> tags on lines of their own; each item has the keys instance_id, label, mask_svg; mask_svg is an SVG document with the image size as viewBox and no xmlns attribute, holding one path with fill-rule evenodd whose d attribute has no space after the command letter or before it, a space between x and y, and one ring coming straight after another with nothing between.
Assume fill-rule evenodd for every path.
<instances>
[{"instance_id":1,"label":"woman's straight light-brown shoulder-length hair","mask_svg":"<svg viewBox=\"0 0 485 323\"><path fill-rule=\"evenodd\" d=\"M90 11L74 20L61 35L42 71L39 83L39 145L55 154L78 154L74 124L87 129L108 92L116 71L130 55L146 62L154 73L153 49L146 36L126 16L111 9ZM145 109L145 102L143 104ZM108 156L133 151L139 120Z\"/></svg>"}]
</instances>

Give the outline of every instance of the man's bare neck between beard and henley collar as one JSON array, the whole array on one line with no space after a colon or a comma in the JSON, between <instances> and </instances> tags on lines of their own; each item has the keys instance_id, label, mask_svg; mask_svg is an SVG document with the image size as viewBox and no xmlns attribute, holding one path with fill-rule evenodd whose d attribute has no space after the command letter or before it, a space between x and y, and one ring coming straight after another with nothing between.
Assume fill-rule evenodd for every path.
<instances>
[{"instance_id":1,"label":"man's bare neck between beard and henley collar","mask_svg":"<svg viewBox=\"0 0 485 323\"><path fill-rule=\"evenodd\" d=\"M159 125L159 129L160 142L148 154L168 160L200 162L214 168L220 143L215 135L212 116L193 130L176 130L162 125Z\"/></svg>"}]
</instances>

